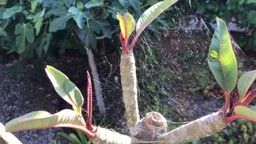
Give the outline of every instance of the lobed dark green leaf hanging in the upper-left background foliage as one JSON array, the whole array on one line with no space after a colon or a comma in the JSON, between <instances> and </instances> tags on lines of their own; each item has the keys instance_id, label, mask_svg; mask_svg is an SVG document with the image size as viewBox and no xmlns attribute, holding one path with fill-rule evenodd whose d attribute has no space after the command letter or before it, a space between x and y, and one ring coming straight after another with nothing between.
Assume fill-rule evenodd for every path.
<instances>
[{"instance_id":1,"label":"lobed dark green leaf hanging in the upper-left background foliage","mask_svg":"<svg viewBox=\"0 0 256 144\"><path fill-rule=\"evenodd\" d=\"M33 43L34 41L34 28L33 28L33 25L31 25L30 23L27 23L27 24L18 23L15 26L14 34L15 35L20 34L16 37L16 45L17 45L18 53L22 53L25 51L26 39L29 43Z\"/></svg>"}]
</instances>

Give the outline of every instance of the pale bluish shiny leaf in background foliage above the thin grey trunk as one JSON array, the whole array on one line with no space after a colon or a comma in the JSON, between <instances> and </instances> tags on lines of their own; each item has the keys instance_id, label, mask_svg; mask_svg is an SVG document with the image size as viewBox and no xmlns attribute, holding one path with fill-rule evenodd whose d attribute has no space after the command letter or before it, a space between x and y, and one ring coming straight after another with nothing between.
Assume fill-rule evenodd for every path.
<instances>
[{"instance_id":1,"label":"pale bluish shiny leaf in background foliage above the thin grey trunk","mask_svg":"<svg viewBox=\"0 0 256 144\"><path fill-rule=\"evenodd\" d=\"M81 12L78 8L71 7L68 9L68 13L73 14L73 19L75 20L75 22L77 22L77 25L79 28L84 27L85 19L83 19L84 18L83 12Z\"/></svg>"}]
</instances>

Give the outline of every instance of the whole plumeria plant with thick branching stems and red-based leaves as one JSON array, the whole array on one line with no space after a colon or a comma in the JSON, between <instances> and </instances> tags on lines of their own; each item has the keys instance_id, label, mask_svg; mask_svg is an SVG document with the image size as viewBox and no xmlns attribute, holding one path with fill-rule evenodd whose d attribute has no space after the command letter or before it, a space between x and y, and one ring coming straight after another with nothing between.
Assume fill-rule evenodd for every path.
<instances>
[{"instance_id":1,"label":"whole plumeria plant with thick branching stems and red-based leaves","mask_svg":"<svg viewBox=\"0 0 256 144\"><path fill-rule=\"evenodd\" d=\"M120 75L130 136L105 128L94 127L91 124L92 95L89 73L88 120L85 122L81 111L83 96L79 89L61 71L50 66L45 68L46 74L53 83L56 92L73 106L73 110L62 110L54 115L45 111L28 113L5 124L5 130L14 132L51 127L71 127L83 131L94 143L184 143L217 133L236 118L246 118L256 122L256 106L247 107L256 95L255 89L247 93L255 80L256 70L240 77L237 85L240 95L236 99L231 99L229 93L234 89L237 81L237 62L226 24L218 17L216 18L217 28L210 46L208 64L220 87L225 91L226 102L223 110L196 119L168 133L166 133L166 119L160 113L150 112L144 118L139 118L133 47L149 23L175 2L165 0L156 3L141 15L137 25L129 13L123 16L117 13L121 28L120 40L123 45ZM129 37L135 26L136 35L130 44Z\"/></svg>"}]
</instances>

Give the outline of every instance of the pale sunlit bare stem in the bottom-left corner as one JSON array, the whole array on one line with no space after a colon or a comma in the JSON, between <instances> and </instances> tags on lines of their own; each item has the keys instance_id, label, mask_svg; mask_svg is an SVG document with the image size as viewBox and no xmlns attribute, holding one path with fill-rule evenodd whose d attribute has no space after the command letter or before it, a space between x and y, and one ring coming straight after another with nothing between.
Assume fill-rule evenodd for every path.
<instances>
[{"instance_id":1,"label":"pale sunlit bare stem in the bottom-left corner","mask_svg":"<svg viewBox=\"0 0 256 144\"><path fill-rule=\"evenodd\" d=\"M0 123L1 144L22 144L13 134L5 132L4 125Z\"/></svg>"}]
</instances>

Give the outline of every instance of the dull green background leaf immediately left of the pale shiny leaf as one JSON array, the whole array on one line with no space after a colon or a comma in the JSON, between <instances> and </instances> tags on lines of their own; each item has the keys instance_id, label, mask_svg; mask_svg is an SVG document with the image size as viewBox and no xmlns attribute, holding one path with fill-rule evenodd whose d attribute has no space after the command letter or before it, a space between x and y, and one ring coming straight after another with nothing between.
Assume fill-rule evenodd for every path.
<instances>
[{"instance_id":1,"label":"dull green background leaf immediately left of the pale shiny leaf","mask_svg":"<svg viewBox=\"0 0 256 144\"><path fill-rule=\"evenodd\" d=\"M66 28L66 22L72 18L71 14L66 14L65 16L57 17L50 23L49 32L56 32Z\"/></svg>"}]
</instances>

